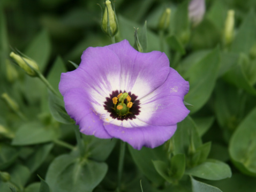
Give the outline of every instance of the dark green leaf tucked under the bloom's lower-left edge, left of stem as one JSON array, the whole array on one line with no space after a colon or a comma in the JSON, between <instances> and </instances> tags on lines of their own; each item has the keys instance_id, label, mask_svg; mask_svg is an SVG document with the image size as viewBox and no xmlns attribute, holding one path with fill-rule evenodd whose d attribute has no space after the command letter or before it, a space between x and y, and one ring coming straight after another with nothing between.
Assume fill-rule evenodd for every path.
<instances>
[{"instance_id":1,"label":"dark green leaf tucked under the bloom's lower-left edge, left of stem","mask_svg":"<svg viewBox=\"0 0 256 192\"><path fill-rule=\"evenodd\" d=\"M93 135L84 135L86 152L89 154L90 159L96 160L97 162L103 162L108 158L111 151L116 145L115 139L99 139Z\"/></svg>"}]
</instances>

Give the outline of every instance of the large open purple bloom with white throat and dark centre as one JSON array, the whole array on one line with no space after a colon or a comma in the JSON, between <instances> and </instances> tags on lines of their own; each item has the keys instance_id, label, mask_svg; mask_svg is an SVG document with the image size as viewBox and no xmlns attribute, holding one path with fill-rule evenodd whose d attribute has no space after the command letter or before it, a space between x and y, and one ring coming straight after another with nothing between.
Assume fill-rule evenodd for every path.
<instances>
[{"instance_id":1,"label":"large open purple bloom with white throat and dark centre","mask_svg":"<svg viewBox=\"0 0 256 192\"><path fill-rule=\"evenodd\" d=\"M79 67L62 73L59 90L80 132L155 148L175 133L189 110L189 91L160 51L141 53L128 41L88 48Z\"/></svg>"}]
</instances>

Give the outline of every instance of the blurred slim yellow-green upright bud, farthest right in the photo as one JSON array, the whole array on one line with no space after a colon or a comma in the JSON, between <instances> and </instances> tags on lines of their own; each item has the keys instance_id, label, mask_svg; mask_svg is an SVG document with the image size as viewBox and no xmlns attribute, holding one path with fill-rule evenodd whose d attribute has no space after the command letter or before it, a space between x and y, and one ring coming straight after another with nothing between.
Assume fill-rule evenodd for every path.
<instances>
[{"instance_id":1,"label":"blurred slim yellow-green upright bud, farthest right in the photo","mask_svg":"<svg viewBox=\"0 0 256 192\"><path fill-rule=\"evenodd\" d=\"M233 40L234 25L235 25L235 11L229 10L227 19L225 21L225 28L224 28L224 42L226 45L230 44Z\"/></svg>"}]
</instances>

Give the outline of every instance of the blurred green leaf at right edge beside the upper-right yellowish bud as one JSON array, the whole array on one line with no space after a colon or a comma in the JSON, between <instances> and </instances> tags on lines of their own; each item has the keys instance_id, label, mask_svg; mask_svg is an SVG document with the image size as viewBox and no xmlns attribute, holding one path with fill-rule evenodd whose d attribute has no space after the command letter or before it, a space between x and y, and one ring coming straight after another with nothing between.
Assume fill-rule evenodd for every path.
<instances>
[{"instance_id":1,"label":"blurred green leaf at right edge beside the upper-right yellowish bud","mask_svg":"<svg viewBox=\"0 0 256 192\"><path fill-rule=\"evenodd\" d=\"M231 44L231 51L236 53L249 54L253 44L256 41L256 20L254 11L251 10L244 18L238 33Z\"/></svg>"}]
</instances>

